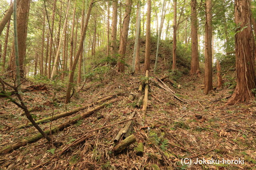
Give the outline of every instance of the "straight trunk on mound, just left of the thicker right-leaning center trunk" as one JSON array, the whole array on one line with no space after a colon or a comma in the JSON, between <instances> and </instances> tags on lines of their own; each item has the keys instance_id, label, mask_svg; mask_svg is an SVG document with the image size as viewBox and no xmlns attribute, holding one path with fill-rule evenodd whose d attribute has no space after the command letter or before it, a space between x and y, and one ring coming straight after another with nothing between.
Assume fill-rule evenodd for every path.
<instances>
[{"instance_id":1,"label":"straight trunk on mound, just left of the thicker right-leaning center trunk","mask_svg":"<svg viewBox=\"0 0 256 170\"><path fill-rule=\"evenodd\" d=\"M110 45L110 53L112 57L116 57L116 32L117 32L117 1L113 1L113 10L112 10L112 25L111 25L111 45ZM121 36L122 37L122 36Z\"/></svg>"}]
</instances>

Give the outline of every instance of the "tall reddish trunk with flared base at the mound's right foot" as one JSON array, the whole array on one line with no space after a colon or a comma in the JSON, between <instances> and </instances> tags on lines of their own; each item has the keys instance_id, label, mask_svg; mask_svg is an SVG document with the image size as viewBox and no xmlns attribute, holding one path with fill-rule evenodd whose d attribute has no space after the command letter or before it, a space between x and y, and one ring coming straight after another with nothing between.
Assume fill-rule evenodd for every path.
<instances>
[{"instance_id":1,"label":"tall reddish trunk with flared base at the mound's right foot","mask_svg":"<svg viewBox=\"0 0 256 170\"><path fill-rule=\"evenodd\" d=\"M199 59L198 59L198 35L197 35L197 14L196 0L191 0L191 41L192 41L192 57L190 74L199 74Z\"/></svg>"}]
</instances>

